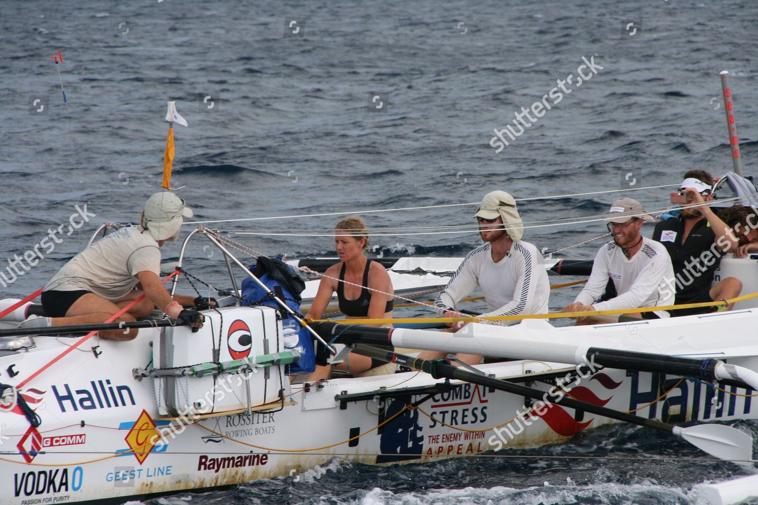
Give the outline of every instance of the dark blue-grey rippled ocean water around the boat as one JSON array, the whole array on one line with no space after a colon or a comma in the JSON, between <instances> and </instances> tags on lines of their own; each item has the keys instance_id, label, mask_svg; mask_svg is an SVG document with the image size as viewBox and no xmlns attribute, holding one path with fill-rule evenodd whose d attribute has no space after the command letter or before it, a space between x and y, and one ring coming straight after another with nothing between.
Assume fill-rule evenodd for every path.
<instances>
[{"instance_id":1,"label":"dark blue-grey rippled ocean water around the boat","mask_svg":"<svg viewBox=\"0 0 758 505\"><path fill-rule=\"evenodd\" d=\"M577 245L605 231L579 221L619 196L662 210L672 189L609 191L676 184L691 168L731 170L721 70L755 173L756 33L758 4L748 0L4 0L0 243L8 261L45 252L33 265L16 260L15 276L0 261L0 293L36 291L101 223L137 220L161 183L168 100L189 122L175 126L172 185L195 220L286 217L208 224L255 232L230 235L255 251L329 254L337 216L287 216L363 213L372 254L460 256L478 236L440 227L471 225L475 205L435 206L495 189L518 199L603 192L519 203L525 240L546 253ZM580 85L583 58L597 73ZM561 100L543 99L557 96L559 79ZM550 110L496 152L493 129L540 101ZM399 207L426 208L365 212ZM572 222L545 226L559 218ZM68 234L72 223L81 224ZM592 257L602 242L561 254ZM165 246L164 259L178 251ZM201 239L185 265L227 285L221 256ZM551 308L575 294L554 291ZM697 482L744 473L628 426L511 456L332 461L151 503L694 503Z\"/></svg>"}]
</instances>

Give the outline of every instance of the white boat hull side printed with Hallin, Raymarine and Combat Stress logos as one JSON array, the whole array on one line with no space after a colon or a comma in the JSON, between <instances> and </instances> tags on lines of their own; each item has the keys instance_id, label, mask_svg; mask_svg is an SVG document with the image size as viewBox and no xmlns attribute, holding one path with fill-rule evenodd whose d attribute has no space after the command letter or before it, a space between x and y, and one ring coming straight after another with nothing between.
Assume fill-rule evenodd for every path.
<instances>
[{"instance_id":1,"label":"white boat hull side printed with Hallin, Raymarine and Combat Stress logos","mask_svg":"<svg viewBox=\"0 0 758 505\"><path fill-rule=\"evenodd\" d=\"M246 314L255 310L260 309L222 310L224 328L235 318L246 319ZM228 351L229 335L222 331L222 338L218 338L218 315L207 314L213 324L206 324L197 334L174 329L174 344L180 346L185 337L187 342L205 338L208 335L204 337L202 332L208 331L214 341L221 342L222 354ZM749 323L754 325L755 319L753 316ZM256 331L253 329L253 338ZM33 351L0 357L0 382L19 384L76 340L36 337L37 348ZM302 391L302 385L290 386L285 376L281 382L283 406L274 402L268 407L254 407L263 410L244 413L246 396L240 393L243 390L232 389L212 408L222 404L226 409L234 407L233 398L237 397L236 410L211 413L185 424L159 416L158 404L165 391L158 388L154 392L158 382L133 378L132 369L148 366L155 346L161 344L157 329L141 330L134 341L99 341L102 354L98 357L90 350L95 344L95 338L86 341L21 388L42 419L38 429L20 413L0 412L0 485L7 490L4 503L125 499L213 488L293 475L331 457L387 464L471 456L486 450L565 441L584 429L613 422L564 407L550 407L543 416L527 415L526 419L501 426L525 412L525 398L470 384L434 394L417 392L411 397L375 396L382 388L393 389L401 383L400 388L409 388L442 382L421 373L402 373L334 379L309 391ZM575 366L527 360L479 368L518 380L524 376L534 379L536 374L550 370L563 376ZM8 370L17 376L8 377ZM262 373L265 370L258 371ZM279 374L279 367L272 367L268 380L278 379ZM547 392L550 385L536 382L534 387ZM672 391L665 402L655 401L669 389ZM722 389L752 393L731 386ZM253 404L255 398L260 398L258 403L265 397L270 400L270 393L252 391ZM338 395L363 393L368 397L359 401L335 399ZM639 416L666 422L756 418L756 402L751 402L750 397L726 394L700 382L680 382L678 377L658 373L602 369L581 379L572 395L615 410L636 410ZM409 401L426 396L428 399L417 409L403 410ZM188 400L194 404L193 398ZM201 407L205 411L211 408L198 408ZM385 423L396 413L399 415ZM493 431L497 426L501 426L500 435Z\"/></svg>"}]
</instances>

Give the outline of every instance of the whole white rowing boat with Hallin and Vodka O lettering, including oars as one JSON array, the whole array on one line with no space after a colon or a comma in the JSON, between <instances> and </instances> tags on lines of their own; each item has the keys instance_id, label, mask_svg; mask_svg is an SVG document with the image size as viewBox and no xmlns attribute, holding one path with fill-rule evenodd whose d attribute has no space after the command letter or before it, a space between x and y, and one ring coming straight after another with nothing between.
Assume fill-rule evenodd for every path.
<instances>
[{"instance_id":1,"label":"whole white rowing boat with Hallin and Vodka O lettering, including oars","mask_svg":"<svg viewBox=\"0 0 758 505\"><path fill-rule=\"evenodd\" d=\"M617 421L734 463L753 458L750 435L728 426L758 418L750 308L582 328L473 323L456 334L312 323L329 344L424 370L315 384L284 375L297 355L283 347L279 310L232 304L205 317L194 333L131 323L141 329L129 342L82 336L96 328L0 330L15 335L0 338L5 503L123 502L293 475L333 457L424 463L559 443ZM462 369L365 344L515 360ZM748 496L755 482L742 488Z\"/></svg>"}]
</instances>

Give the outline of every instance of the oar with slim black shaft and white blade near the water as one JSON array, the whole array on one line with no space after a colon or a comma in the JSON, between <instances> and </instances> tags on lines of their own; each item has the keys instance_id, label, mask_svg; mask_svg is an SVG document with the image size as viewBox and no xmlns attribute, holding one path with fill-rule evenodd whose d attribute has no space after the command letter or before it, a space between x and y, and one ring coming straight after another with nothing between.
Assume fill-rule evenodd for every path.
<instances>
[{"instance_id":1,"label":"oar with slim black shaft and white blade near the water","mask_svg":"<svg viewBox=\"0 0 758 505\"><path fill-rule=\"evenodd\" d=\"M550 394L547 391L540 391L539 389L529 388L525 385L469 372L466 369L450 365L449 363L421 360L404 354L396 354L393 351L385 351L383 349L364 345L356 348L355 352L377 360L399 363L423 370L425 373L431 374L434 379L459 379L465 382L471 382L471 384L478 384L487 388L494 388L499 391L518 394L518 396L541 400L545 404L557 404L561 407L584 410L589 413L597 414L598 416L608 417L609 419L631 422L632 424L645 426L646 428L672 433L673 435L684 438L685 441L688 441L698 449L722 460L732 461L741 465L750 465L750 460L752 460L753 457L753 437L736 428L732 428L731 426L700 424L697 426L682 428L681 426L673 426L666 422L656 421L655 419L645 419L625 412L619 412L618 410L589 404L585 401L575 400L570 397L563 396L559 400L556 400L555 398L550 397Z\"/></svg>"}]
</instances>

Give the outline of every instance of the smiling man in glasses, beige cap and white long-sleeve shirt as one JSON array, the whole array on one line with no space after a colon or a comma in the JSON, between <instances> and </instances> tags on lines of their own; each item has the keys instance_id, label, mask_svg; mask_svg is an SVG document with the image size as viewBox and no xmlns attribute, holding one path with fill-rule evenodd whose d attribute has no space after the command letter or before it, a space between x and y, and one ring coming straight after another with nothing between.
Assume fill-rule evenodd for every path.
<instances>
[{"instance_id":1,"label":"smiling man in glasses, beige cap and white long-sleeve shirt","mask_svg":"<svg viewBox=\"0 0 758 505\"><path fill-rule=\"evenodd\" d=\"M674 270L669 253L660 242L640 234L642 223L653 223L653 216L645 213L640 202L622 198L613 202L606 221L613 242L597 251L590 279L574 303L563 307L563 312L673 305L674 291L671 286ZM618 295L594 303L606 288L608 279L612 279ZM644 319L669 317L666 310L628 315ZM580 317L577 323L594 322Z\"/></svg>"}]
</instances>

